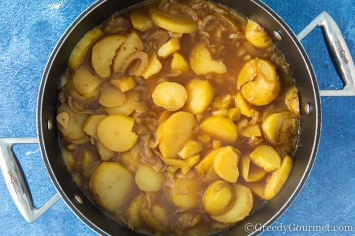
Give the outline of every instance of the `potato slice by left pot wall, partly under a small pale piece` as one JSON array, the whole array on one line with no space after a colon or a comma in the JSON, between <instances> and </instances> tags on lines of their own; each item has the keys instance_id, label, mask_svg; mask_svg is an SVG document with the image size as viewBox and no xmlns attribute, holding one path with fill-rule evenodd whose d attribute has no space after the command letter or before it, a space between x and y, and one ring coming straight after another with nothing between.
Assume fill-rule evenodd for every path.
<instances>
[{"instance_id":1,"label":"potato slice by left pot wall, partly under a small pale piece","mask_svg":"<svg viewBox=\"0 0 355 236\"><path fill-rule=\"evenodd\" d=\"M69 116L67 128L64 128L62 125L58 125L58 128L62 132L63 136L74 141L83 138L86 134L81 127L89 115L73 112L67 103L63 103L58 108L58 114L63 112L67 113Z\"/></svg>"}]
</instances>

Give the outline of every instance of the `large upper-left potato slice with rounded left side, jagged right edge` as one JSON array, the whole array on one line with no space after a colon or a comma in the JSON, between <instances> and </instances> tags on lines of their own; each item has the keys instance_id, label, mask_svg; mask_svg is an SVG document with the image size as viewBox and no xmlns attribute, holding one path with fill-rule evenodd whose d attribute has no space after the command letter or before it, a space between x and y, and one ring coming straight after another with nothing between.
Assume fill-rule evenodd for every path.
<instances>
[{"instance_id":1,"label":"large upper-left potato slice with rounded left side, jagged right edge","mask_svg":"<svg viewBox=\"0 0 355 236\"><path fill-rule=\"evenodd\" d=\"M101 78L111 75L110 66L118 48L126 38L119 34L107 35L98 41L91 54L91 65Z\"/></svg>"}]
</instances>

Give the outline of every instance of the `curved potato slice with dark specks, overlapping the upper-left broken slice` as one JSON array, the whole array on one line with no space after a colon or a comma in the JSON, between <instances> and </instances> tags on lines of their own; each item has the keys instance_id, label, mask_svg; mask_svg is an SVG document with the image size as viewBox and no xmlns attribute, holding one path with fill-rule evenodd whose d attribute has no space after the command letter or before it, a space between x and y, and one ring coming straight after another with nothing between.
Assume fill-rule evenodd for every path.
<instances>
[{"instance_id":1,"label":"curved potato slice with dark specks, overlapping the upper-left broken slice","mask_svg":"<svg viewBox=\"0 0 355 236\"><path fill-rule=\"evenodd\" d=\"M143 50L143 42L136 32L131 32L127 35L126 41L118 49L116 56L113 59L113 71L119 72L123 62L134 52Z\"/></svg>"}]
</instances>

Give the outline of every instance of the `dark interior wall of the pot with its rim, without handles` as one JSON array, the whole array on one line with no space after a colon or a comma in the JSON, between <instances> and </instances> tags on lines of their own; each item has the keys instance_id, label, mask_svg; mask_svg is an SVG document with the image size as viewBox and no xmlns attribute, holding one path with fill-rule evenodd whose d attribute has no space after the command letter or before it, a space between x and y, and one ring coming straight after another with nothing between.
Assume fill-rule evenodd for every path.
<instances>
[{"instance_id":1,"label":"dark interior wall of the pot with its rim, without handles","mask_svg":"<svg viewBox=\"0 0 355 236\"><path fill-rule=\"evenodd\" d=\"M86 10L81 17L79 17L80 19L74 21L66 35L56 46L48 66L44 71L42 85L39 91L38 133L40 137L42 136L40 145L42 151L44 151L43 154L46 154L43 155L43 159L47 170L56 188L61 192L64 201L71 207L71 210L91 228L104 235L132 235L134 233L112 222L105 214L98 210L74 184L67 168L63 165L57 130L53 128L51 131L48 131L47 119L51 119L53 122L55 121L57 87L60 76L67 67L69 55L76 42L83 34L99 25L112 13L139 2L139 0L102 0L94 3L93 6ZM313 165L318 147L320 135L320 101L318 86L309 59L294 34L292 34L281 19L279 19L280 24L277 20L278 17L265 10L269 8L259 1L220 0L220 2L242 12L247 17L255 19L268 30L294 71L301 98L301 107L304 108L306 103L309 103L311 106L310 115L305 115L304 113L302 115L299 147L295 153L292 172L282 191L251 217L224 234L244 236L248 235L244 230L245 224L272 223L275 220L272 219L280 216L300 191ZM278 30L283 35L283 41L277 41L274 38L274 30ZM74 194L81 196L83 204L78 204L75 201ZM283 206L285 207L283 208Z\"/></svg>"}]
</instances>

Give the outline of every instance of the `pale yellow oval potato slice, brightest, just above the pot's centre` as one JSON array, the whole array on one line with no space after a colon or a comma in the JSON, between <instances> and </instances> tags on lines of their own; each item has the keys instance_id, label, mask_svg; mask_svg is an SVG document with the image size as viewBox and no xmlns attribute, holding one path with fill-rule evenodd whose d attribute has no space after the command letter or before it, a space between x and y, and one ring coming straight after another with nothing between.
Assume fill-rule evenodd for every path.
<instances>
[{"instance_id":1,"label":"pale yellow oval potato slice, brightest, just above the pot's centre","mask_svg":"<svg viewBox=\"0 0 355 236\"><path fill-rule=\"evenodd\" d=\"M185 104L187 92L182 85L165 81L155 87L152 98L155 105L168 111L176 111Z\"/></svg>"}]
</instances>

